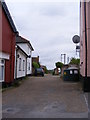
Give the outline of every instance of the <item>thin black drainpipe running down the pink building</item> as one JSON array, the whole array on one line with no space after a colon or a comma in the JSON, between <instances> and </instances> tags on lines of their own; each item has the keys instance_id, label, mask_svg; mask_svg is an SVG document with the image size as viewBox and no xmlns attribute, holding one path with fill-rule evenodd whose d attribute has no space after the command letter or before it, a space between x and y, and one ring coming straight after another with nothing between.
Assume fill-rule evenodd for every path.
<instances>
[{"instance_id":1,"label":"thin black drainpipe running down the pink building","mask_svg":"<svg viewBox=\"0 0 90 120\"><path fill-rule=\"evenodd\" d=\"M84 1L84 18L85 18L85 83L87 87L87 21L86 21L86 2Z\"/></svg>"}]
</instances>

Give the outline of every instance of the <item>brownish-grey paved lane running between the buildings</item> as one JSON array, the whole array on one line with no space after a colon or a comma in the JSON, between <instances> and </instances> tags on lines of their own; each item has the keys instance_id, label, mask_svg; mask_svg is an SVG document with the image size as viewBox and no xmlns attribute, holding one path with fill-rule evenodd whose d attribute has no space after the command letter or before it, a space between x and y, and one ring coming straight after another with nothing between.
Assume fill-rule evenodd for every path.
<instances>
[{"instance_id":1,"label":"brownish-grey paved lane running between the buildings","mask_svg":"<svg viewBox=\"0 0 90 120\"><path fill-rule=\"evenodd\" d=\"M59 76L28 77L18 88L3 92L3 118L87 118L79 83Z\"/></svg>"}]
</instances>

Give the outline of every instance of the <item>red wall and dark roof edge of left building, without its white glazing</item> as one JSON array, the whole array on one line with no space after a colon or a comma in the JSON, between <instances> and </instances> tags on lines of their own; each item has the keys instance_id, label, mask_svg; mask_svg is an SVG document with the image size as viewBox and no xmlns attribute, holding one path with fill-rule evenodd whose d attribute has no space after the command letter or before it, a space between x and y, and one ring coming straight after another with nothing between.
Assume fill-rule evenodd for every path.
<instances>
[{"instance_id":1,"label":"red wall and dark roof edge of left building, without its white glazing","mask_svg":"<svg viewBox=\"0 0 90 120\"><path fill-rule=\"evenodd\" d=\"M10 84L14 81L15 38L17 30L5 2L0 2L0 10L2 10L2 40L0 39L2 41L1 52L9 55L8 60L4 59L4 82L5 84Z\"/></svg>"}]
</instances>

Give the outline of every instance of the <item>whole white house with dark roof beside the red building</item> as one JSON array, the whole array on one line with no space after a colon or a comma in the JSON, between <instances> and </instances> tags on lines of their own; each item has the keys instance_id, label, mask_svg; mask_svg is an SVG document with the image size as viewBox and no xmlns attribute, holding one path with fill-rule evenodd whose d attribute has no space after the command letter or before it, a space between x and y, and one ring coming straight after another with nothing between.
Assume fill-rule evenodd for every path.
<instances>
[{"instance_id":1,"label":"whole white house with dark roof beside the red building","mask_svg":"<svg viewBox=\"0 0 90 120\"><path fill-rule=\"evenodd\" d=\"M16 37L15 79L32 74L32 51L30 41L21 36Z\"/></svg>"}]
</instances>

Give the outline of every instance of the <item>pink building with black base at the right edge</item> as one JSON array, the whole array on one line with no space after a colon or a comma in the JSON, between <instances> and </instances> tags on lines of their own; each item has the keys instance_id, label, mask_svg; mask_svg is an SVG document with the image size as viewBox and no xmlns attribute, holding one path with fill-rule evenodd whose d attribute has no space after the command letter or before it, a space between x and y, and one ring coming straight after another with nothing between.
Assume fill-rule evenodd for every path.
<instances>
[{"instance_id":1,"label":"pink building with black base at the right edge","mask_svg":"<svg viewBox=\"0 0 90 120\"><path fill-rule=\"evenodd\" d=\"M80 73L84 91L90 91L90 2L80 3Z\"/></svg>"}]
</instances>

